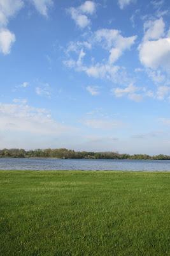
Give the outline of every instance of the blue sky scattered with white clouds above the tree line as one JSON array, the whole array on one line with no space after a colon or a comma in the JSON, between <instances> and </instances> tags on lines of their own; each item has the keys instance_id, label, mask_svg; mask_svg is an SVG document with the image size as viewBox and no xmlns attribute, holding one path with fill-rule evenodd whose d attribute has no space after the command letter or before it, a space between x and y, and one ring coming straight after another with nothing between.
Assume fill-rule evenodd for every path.
<instances>
[{"instance_id":1,"label":"blue sky scattered with white clouds above the tree line","mask_svg":"<svg viewBox=\"0 0 170 256\"><path fill-rule=\"evenodd\" d=\"M170 154L169 0L0 0L1 148Z\"/></svg>"}]
</instances>

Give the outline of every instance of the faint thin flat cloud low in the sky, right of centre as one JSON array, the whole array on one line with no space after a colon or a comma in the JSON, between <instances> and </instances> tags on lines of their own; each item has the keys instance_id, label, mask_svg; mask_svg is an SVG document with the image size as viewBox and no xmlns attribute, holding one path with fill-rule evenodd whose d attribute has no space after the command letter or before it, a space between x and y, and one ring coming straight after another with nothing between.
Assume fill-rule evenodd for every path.
<instances>
[{"instance_id":1,"label":"faint thin flat cloud low in the sky, right of centre","mask_svg":"<svg viewBox=\"0 0 170 256\"><path fill-rule=\"evenodd\" d=\"M117 120L108 120L108 119L87 119L83 121L83 124L87 125L93 129L103 129L110 130L122 125L122 122Z\"/></svg>"}]
</instances>

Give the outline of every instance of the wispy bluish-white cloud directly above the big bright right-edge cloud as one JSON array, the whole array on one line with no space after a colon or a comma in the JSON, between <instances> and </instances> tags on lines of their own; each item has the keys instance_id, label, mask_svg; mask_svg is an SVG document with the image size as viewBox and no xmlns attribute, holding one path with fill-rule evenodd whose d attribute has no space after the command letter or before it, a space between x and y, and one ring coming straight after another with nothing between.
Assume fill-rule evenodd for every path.
<instances>
[{"instance_id":1,"label":"wispy bluish-white cloud directly above the big bright right-edge cloud","mask_svg":"<svg viewBox=\"0 0 170 256\"><path fill-rule=\"evenodd\" d=\"M157 40L164 36L165 23L162 17L158 20L148 20L144 24L145 35L143 40Z\"/></svg>"}]
</instances>

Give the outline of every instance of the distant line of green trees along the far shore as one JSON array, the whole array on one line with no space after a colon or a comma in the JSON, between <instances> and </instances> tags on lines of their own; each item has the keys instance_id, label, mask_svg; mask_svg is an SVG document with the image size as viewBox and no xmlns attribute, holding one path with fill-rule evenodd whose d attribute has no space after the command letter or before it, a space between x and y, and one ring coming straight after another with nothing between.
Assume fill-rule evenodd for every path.
<instances>
[{"instance_id":1,"label":"distant line of green trees along the far shore","mask_svg":"<svg viewBox=\"0 0 170 256\"><path fill-rule=\"evenodd\" d=\"M24 150L20 148L4 148L0 150L0 157L29 158L29 157L55 157L62 159L150 159L170 160L170 156L163 154L149 156L146 154L119 154L118 152L86 152L74 151L67 148L46 148L36 150Z\"/></svg>"}]
</instances>

